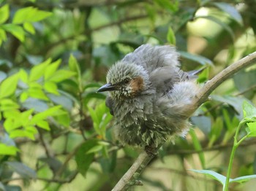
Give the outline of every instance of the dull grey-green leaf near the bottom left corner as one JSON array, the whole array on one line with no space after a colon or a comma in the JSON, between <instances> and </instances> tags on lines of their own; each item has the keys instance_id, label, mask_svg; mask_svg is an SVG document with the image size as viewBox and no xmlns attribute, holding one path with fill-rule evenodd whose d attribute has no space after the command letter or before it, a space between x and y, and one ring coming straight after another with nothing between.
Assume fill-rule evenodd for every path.
<instances>
[{"instance_id":1,"label":"dull grey-green leaf near the bottom left corner","mask_svg":"<svg viewBox=\"0 0 256 191\"><path fill-rule=\"evenodd\" d=\"M34 171L32 168L30 168L29 166L23 163L8 161L8 162L5 162L4 164L10 166L10 168L12 168L13 171L20 174L20 176L25 179L37 179L36 171Z\"/></svg>"}]
</instances>

